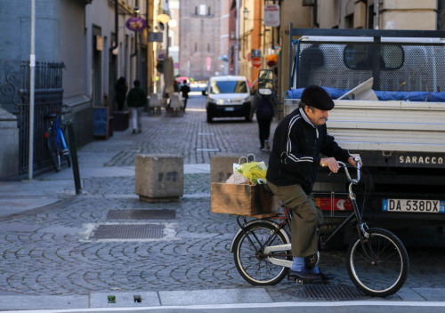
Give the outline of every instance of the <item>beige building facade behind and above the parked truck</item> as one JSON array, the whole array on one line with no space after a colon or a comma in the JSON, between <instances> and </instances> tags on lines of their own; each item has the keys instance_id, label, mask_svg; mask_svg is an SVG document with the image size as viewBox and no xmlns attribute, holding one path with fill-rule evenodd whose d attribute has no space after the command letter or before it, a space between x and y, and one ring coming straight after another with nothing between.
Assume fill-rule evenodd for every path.
<instances>
[{"instance_id":1,"label":"beige building facade behind and above the parked truck","mask_svg":"<svg viewBox=\"0 0 445 313\"><path fill-rule=\"evenodd\" d=\"M279 47L280 95L289 87L288 73L292 66L289 64L290 23L294 28L445 28L443 0L265 0L265 3L279 4L280 7L280 25L273 28L277 37L272 40ZM239 49L241 52L242 47Z\"/></svg>"}]
</instances>

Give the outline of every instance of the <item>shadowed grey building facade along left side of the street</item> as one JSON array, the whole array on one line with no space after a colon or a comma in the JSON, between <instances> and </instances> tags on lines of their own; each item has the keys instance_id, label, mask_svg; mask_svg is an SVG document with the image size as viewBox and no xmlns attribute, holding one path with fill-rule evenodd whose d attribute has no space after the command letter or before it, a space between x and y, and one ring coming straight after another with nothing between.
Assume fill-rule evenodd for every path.
<instances>
[{"instance_id":1,"label":"shadowed grey building facade along left side of the street","mask_svg":"<svg viewBox=\"0 0 445 313\"><path fill-rule=\"evenodd\" d=\"M35 0L34 165L44 167L45 114L57 111L74 125L77 146L93 140L93 108L117 109L117 78L139 79L147 91L156 80L156 0ZM147 28L126 22L141 17ZM20 176L28 166L31 1L0 0L0 177ZM141 31L139 31L141 30ZM14 127L15 124L15 127ZM4 127L7 125L7 127ZM16 161L19 160L19 161Z\"/></svg>"}]
</instances>

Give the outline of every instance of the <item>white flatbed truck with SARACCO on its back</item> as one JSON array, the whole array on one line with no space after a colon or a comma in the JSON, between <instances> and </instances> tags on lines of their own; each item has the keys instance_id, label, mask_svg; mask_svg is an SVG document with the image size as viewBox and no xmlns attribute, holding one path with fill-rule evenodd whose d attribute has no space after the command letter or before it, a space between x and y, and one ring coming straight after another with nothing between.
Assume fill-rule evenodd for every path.
<instances>
[{"instance_id":1,"label":"white flatbed truck with SARACCO on its back","mask_svg":"<svg viewBox=\"0 0 445 313\"><path fill-rule=\"evenodd\" d=\"M318 84L335 102L328 132L360 155L364 216L393 227L445 225L445 32L290 28L292 71L284 114ZM325 221L351 205L341 174L314 186Z\"/></svg>"}]
</instances>

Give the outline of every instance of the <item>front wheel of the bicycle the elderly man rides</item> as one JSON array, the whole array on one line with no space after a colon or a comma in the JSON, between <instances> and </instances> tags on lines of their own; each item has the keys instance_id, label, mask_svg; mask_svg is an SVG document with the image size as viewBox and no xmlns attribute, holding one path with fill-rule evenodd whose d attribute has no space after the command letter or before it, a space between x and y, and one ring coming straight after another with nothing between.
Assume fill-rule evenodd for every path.
<instances>
[{"instance_id":1,"label":"front wheel of the bicycle the elderly man rides","mask_svg":"<svg viewBox=\"0 0 445 313\"><path fill-rule=\"evenodd\" d=\"M348 274L363 293L386 297L397 293L409 271L409 256L401 239L386 229L369 229L362 243L353 242L347 253Z\"/></svg>"}]
</instances>

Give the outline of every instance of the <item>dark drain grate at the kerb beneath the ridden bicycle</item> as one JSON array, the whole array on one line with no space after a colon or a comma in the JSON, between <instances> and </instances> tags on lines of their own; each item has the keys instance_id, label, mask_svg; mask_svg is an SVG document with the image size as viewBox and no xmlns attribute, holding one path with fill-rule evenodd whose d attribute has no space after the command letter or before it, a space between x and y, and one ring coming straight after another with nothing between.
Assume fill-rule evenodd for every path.
<instances>
[{"instance_id":1,"label":"dark drain grate at the kerb beneath the ridden bicycle","mask_svg":"<svg viewBox=\"0 0 445 313\"><path fill-rule=\"evenodd\" d=\"M298 291L298 296L312 300L331 301L350 301L367 298L356 287L347 285L304 285L303 289Z\"/></svg>"}]
</instances>

